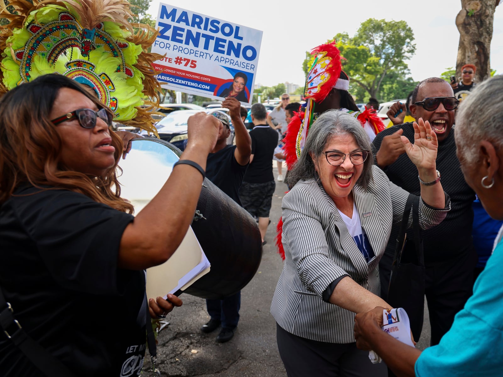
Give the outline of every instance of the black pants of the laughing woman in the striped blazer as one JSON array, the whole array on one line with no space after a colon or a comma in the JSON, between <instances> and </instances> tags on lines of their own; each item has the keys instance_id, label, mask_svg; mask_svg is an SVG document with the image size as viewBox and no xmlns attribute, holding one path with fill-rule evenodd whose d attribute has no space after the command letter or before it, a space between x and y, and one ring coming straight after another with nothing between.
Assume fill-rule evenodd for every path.
<instances>
[{"instance_id":1,"label":"black pants of the laughing woman in the striped blazer","mask_svg":"<svg viewBox=\"0 0 503 377\"><path fill-rule=\"evenodd\" d=\"M372 364L356 343L319 342L293 335L276 324L276 339L288 377L385 377L384 362Z\"/></svg>"}]
</instances>

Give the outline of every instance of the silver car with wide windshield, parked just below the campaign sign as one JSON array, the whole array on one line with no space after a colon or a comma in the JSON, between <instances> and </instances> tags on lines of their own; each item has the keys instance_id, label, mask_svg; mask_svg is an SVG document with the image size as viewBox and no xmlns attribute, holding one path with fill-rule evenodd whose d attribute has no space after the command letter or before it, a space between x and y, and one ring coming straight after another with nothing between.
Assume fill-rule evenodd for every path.
<instances>
[{"instance_id":1,"label":"silver car with wide windshield, parked just below the campaign sign","mask_svg":"<svg viewBox=\"0 0 503 377\"><path fill-rule=\"evenodd\" d=\"M227 109L224 109L227 110ZM195 110L176 110L164 116L161 120L155 123L155 127L157 128L157 133L159 134L159 138L173 144L175 147L180 149L181 151L185 150L187 146L187 121L189 116L194 115L199 112L199 109ZM215 111L215 109L205 109L202 111L210 114ZM228 110L227 110L228 111ZM226 112L225 112L226 113ZM228 115L227 115L228 116ZM234 142L234 127L232 125L232 121L229 117L230 124L230 135L227 139L227 144L233 144ZM140 135L145 137L153 137L153 135L148 135L146 131L140 132Z\"/></svg>"}]
</instances>

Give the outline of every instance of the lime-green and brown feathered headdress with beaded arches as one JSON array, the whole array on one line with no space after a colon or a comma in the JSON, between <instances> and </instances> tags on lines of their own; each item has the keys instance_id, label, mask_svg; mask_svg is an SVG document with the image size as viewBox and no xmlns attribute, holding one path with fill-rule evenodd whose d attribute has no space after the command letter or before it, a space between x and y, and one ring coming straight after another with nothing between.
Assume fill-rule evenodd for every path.
<instances>
[{"instance_id":1,"label":"lime-green and brown feathered headdress with beaded arches","mask_svg":"<svg viewBox=\"0 0 503 377\"><path fill-rule=\"evenodd\" d=\"M155 132L151 112L160 86L147 52L156 33L134 33L124 0L13 0L0 17L0 95L47 73L60 73L91 87L114 111L114 120ZM143 100L148 97L147 101ZM146 106L145 106L146 105Z\"/></svg>"}]
</instances>

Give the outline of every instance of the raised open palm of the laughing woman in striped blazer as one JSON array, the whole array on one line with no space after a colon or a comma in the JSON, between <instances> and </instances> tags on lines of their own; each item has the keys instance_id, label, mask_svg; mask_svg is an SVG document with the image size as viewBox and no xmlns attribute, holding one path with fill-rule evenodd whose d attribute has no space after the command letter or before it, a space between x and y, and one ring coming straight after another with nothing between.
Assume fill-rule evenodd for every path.
<instances>
[{"instance_id":1,"label":"raised open palm of the laughing woman in striped blazer","mask_svg":"<svg viewBox=\"0 0 503 377\"><path fill-rule=\"evenodd\" d=\"M419 118L418 122L412 123L414 127L414 144L402 136L401 140L405 153L418 171L434 171L436 169L437 151L439 143L437 134L432 130L430 122Z\"/></svg>"}]
</instances>

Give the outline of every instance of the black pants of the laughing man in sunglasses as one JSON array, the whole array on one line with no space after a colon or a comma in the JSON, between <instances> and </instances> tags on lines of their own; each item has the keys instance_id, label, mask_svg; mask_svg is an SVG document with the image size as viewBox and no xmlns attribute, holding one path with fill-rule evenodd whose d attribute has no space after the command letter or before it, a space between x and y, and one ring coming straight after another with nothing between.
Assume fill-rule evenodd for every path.
<instances>
[{"instance_id":1,"label":"black pants of the laughing man in sunglasses","mask_svg":"<svg viewBox=\"0 0 503 377\"><path fill-rule=\"evenodd\" d=\"M381 297L386 300L393 257L384 254L379 261ZM436 345L472 295L476 255L470 250L459 257L426 266L425 293L432 328L431 345Z\"/></svg>"}]
</instances>

